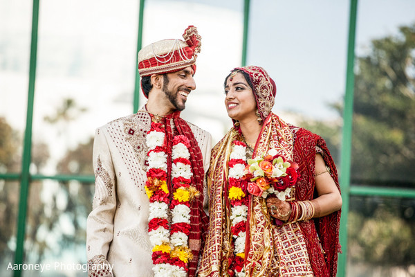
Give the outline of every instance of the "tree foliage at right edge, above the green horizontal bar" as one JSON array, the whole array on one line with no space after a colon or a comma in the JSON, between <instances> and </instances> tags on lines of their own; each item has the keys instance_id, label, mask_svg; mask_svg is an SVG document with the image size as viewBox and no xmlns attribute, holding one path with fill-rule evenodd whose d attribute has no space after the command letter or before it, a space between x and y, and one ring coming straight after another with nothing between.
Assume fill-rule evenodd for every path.
<instances>
[{"instance_id":1,"label":"tree foliage at right edge, above the green horizontal bar","mask_svg":"<svg viewBox=\"0 0 415 277\"><path fill-rule=\"evenodd\" d=\"M358 57L351 179L415 188L415 24Z\"/></svg>"}]
</instances>

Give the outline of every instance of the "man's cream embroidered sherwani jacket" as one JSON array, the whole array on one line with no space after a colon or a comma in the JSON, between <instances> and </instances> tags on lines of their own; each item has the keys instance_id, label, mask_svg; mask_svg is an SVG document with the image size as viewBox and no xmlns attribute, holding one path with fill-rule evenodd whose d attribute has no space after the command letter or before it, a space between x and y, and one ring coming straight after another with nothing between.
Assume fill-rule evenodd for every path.
<instances>
[{"instance_id":1,"label":"man's cream embroidered sherwani jacket","mask_svg":"<svg viewBox=\"0 0 415 277\"><path fill-rule=\"evenodd\" d=\"M109 262L116 277L154 276L147 233L149 199L145 193L146 135L150 123L149 114L141 109L137 114L113 120L95 132L95 195L93 211L87 220L86 253L90 266ZM206 172L211 135L188 124L201 149ZM207 195L206 192L203 194ZM89 276L97 272L91 270ZM110 270L104 271L103 276L106 273L111 276Z\"/></svg>"}]
</instances>

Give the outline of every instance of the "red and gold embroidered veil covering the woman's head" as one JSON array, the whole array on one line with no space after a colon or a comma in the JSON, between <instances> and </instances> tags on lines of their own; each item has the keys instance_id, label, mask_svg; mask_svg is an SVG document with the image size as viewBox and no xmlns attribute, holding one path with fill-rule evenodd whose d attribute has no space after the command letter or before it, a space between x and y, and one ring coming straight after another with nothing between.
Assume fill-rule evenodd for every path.
<instances>
[{"instance_id":1,"label":"red and gold embroidered veil covering the woman's head","mask_svg":"<svg viewBox=\"0 0 415 277\"><path fill-rule=\"evenodd\" d=\"M237 67L232 71L243 71L248 73L250 81L254 85L252 89L254 91L255 100L257 101L259 116L265 121L275 103L277 88L275 87L274 80L270 78L270 75L268 75L265 69L260 66Z\"/></svg>"}]
</instances>

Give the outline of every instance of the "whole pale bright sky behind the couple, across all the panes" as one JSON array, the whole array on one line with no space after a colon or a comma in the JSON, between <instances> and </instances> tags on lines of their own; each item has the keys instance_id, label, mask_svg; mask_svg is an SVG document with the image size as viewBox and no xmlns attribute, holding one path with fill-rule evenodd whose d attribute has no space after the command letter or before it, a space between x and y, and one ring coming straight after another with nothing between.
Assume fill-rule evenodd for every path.
<instances>
[{"instance_id":1,"label":"whole pale bright sky behind the couple, across all the panes","mask_svg":"<svg viewBox=\"0 0 415 277\"><path fill-rule=\"evenodd\" d=\"M252 0L250 8L247 64L263 66L275 80L273 111L289 122L297 116L338 120L329 104L344 96L349 1ZM357 55L366 53L371 39L414 22L413 10L415 2L409 0L360 1ZM0 64L6 64L0 70L0 116L21 130L30 12L29 0L0 0ZM39 15L33 136L53 148L56 161L65 149L87 141L96 127L132 112L138 1L44 0ZM143 21L143 46L181 39L188 25L197 26L202 36L197 88L182 114L211 132L214 143L219 141L231 126L223 79L241 65L243 1L147 0ZM48 125L44 117L53 116L63 98L74 98L88 111L77 120ZM140 106L144 104L141 97Z\"/></svg>"}]
</instances>

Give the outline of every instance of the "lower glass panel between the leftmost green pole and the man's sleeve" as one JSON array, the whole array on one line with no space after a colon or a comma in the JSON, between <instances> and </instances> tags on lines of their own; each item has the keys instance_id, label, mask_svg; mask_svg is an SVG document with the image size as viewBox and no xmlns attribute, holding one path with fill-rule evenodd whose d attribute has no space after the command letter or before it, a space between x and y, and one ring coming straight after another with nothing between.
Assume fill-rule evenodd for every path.
<instances>
[{"instance_id":1,"label":"lower glass panel between the leftmost green pole and the man's sleeve","mask_svg":"<svg viewBox=\"0 0 415 277\"><path fill-rule=\"evenodd\" d=\"M86 217L93 190L93 184L78 181L30 184L24 263L48 269L23 271L22 276L86 275Z\"/></svg>"}]
</instances>

